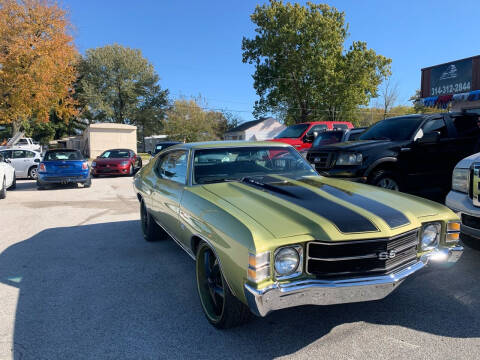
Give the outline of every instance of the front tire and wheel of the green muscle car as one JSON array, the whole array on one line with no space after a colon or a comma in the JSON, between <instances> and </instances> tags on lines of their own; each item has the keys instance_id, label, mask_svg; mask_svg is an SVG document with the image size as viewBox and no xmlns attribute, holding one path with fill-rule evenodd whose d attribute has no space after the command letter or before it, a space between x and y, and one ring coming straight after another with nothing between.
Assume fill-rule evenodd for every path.
<instances>
[{"instance_id":1,"label":"front tire and wheel of the green muscle car","mask_svg":"<svg viewBox=\"0 0 480 360\"><path fill-rule=\"evenodd\" d=\"M232 294L215 253L206 243L197 251L196 275L200 303L210 324L229 329L251 320L250 309Z\"/></svg>"}]
</instances>

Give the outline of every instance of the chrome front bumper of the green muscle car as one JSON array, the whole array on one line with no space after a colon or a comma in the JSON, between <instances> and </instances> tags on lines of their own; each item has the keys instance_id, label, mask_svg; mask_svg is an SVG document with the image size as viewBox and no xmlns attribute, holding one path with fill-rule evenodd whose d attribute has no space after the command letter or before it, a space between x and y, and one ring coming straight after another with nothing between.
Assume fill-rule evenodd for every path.
<instances>
[{"instance_id":1,"label":"chrome front bumper of the green muscle car","mask_svg":"<svg viewBox=\"0 0 480 360\"><path fill-rule=\"evenodd\" d=\"M257 316L300 305L333 305L379 300L386 297L403 280L423 268L429 261L456 262L463 247L443 248L423 255L420 260L398 272L342 280L301 280L254 289L245 284L245 297L250 310Z\"/></svg>"}]
</instances>

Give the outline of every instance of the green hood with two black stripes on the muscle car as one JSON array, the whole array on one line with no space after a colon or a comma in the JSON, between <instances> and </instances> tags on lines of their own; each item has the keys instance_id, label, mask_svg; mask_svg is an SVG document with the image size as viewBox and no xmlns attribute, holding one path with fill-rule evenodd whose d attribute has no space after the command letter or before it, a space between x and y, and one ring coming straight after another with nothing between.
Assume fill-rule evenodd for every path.
<instances>
[{"instance_id":1,"label":"green hood with two black stripes on the muscle car","mask_svg":"<svg viewBox=\"0 0 480 360\"><path fill-rule=\"evenodd\" d=\"M364 184L320 176L281 179L266 188L245 182L203 188L253 218L275 238L310 235L338 241L390 237L420 227L421 217L449 211L428 200Z\"/></svg>"}]
</instances>

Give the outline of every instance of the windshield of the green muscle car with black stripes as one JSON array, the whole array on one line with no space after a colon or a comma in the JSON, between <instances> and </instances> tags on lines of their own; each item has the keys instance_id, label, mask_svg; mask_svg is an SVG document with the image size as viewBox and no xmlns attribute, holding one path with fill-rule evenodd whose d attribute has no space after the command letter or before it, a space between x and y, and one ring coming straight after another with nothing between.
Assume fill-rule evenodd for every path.
<instances>
[{"instance_id":1,"label":"windshield of the green muscle car with black stripes","mask_svg":"<svg viewBox=\"0 0 480 360\"><path fill-rule=\"evenodd\" d=\"M196 184L264 175L282 175L293 179L317 175L298 152L285 147L196 150L193 161Z\"/></svg>"}]
</instances>

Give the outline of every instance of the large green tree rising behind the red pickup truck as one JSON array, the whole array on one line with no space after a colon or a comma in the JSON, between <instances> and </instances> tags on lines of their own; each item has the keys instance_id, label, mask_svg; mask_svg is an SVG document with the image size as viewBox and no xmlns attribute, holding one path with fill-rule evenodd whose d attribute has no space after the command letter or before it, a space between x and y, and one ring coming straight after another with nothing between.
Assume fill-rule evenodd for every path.
<instances>
[{"instance_id":1,"label":"large green tree rising behind the red pickup truck","mask_svg":"<svg viewBox=\"0 0 480 360\"><path fill-rule=\"evenodd\" d=\"M255 64L260 99L254 115L285 114L285 122L349 119L377 96L391 60L355 41L348 50L345 14L325 4L270 0L251 15L257 35L243 38L243 62Z\"/></svg>"}]
</instances>

